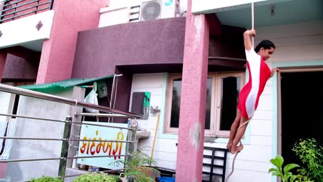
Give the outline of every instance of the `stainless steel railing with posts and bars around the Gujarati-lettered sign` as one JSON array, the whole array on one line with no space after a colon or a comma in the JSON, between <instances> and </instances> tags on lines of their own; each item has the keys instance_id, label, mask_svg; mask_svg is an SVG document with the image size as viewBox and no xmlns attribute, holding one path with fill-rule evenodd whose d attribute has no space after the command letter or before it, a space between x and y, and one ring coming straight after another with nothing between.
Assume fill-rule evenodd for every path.
<instances>
[{"instance_id":1,"label":"stainless steel railing with posts and bars around the Gujarati-lettered sign","mask_svg":"<svg viewBox=\"0 0 323 182\"><path fill-rule=\"evenodd\" d=\"M16 88L12 87L10 85L3 85L0 84L0 92L8 92L11 94L19 94L25 97L32 97L36 99L43 99L44 101L54 101L58 103L66 103L68 105L72 106L79 106L81 108L90 108L90 109L95 109L99 110L101 112L106 112L107 114L90 114L90 113L77 113L75 112L74 115L75 117L123 117L123 118L130 118L130 119L140 119L142 116L140 114L135 114L131 112L123 112L120 110L115 110L112 108L104 107L101 105L94 105L90 103L85 103L73 99L67 99L64 97L58 97L55 95L51 94L44 94L41 92L35 92L31 90L25 90L21 88ZM72 111L72 107L70 107L70 112ZM82 122L77 122L77 121L72 121L71 116L67 116L64 121L60 121L57 119L48 119L48 118L41 118L41 117L33 117L33 116L23 116L19 114L3 114L0 113L0 116L4 117L16 117L16 118L23 118L27 119L24 120L25 122L28 122L28 119L33 119L33 121L48 121L48 122L59 122L59 123L64 123L64 132L63 132L63 137L59 139L54 139L54 138L32 138L32 137L14 137L14 136L1 136L0 139L9 139L9 140L37 140L37 141L62 141L61 145L61 154L59 157L51 157L51 158L41 158L41 159L6 159L6 160L0 160L0 163L13 163L13 162L27 162L27 161L48 161L48 160L59 160L59 172L58 176L61 179L64 179L66 177L71 177L71 176L77 176L77 175L70 175L66 176L66 163L67 159L85 159L85 158L97 158L97 157L111 157L111 156L125 156L126 160L131 158L131 153L134 152L132 149L134 148L133 145L136 143L135 141L135 136L137 132L137 121L133 120L133 122L128 126L128 128L125 127L117 127L117 126L111 126L111 125L101 125L97 123L82 123ZM1 122L1 121L0 121ZM10 122L10 121L9 121ZM68 156L68 149L70 147L69 141L99 141L101 142L102 140L91 140L91 139L72 139L71 135L71 130L72 130L72 125L74 126L81 126L81 125L94 125L98 127L105 127L105 128L119 128L119 129L125 129L128 130L128 139L126 141L118 141L118 140L110 140L105 142L116 142L116 143L126 143L126 154L116 154L116 155L101 155L101 156ZM78 135L73 135L73 136L78 136ZM123 169L120 169L123 170ZM103 172L112 172L116 170L106 170ZM118 171L118 170L117 170ZM81 174L79 174L81 175Z\"/></svg>"}]
</instances>

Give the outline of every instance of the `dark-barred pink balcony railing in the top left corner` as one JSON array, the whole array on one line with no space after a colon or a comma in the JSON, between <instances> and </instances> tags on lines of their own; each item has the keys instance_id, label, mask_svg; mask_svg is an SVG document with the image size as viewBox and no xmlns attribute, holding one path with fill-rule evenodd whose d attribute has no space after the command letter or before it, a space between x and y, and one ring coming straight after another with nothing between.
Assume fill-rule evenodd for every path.
<instances>
[{"instance_id":1,"label":"dark-barred pink balcony railing in the top left corner","mask_svg":"<svg viewBox=\"0 0 323 182\"><path fill-rule=\"evenodd\" d=\"M1 10L0 23L51 10L53 1L54 0L5 0L3 1Z\"/></svg>"}]
</instances>

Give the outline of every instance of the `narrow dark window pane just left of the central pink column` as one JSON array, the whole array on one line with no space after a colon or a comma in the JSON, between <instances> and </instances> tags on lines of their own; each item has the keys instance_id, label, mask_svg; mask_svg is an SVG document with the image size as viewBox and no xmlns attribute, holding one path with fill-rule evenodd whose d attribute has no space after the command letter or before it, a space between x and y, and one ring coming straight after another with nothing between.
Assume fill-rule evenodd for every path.
<instances>
[{"instance_id":1,"label":"narrow dark window pane just left of the central pink column","mask_svg":"<svg viewBox=\"0 0 323 182\"><path fill-rule=\"evenodd\" d=\"M170 127L179 127L179 105L181 104L182 78L173 81L172 112L170 113Z\"/></svg>"}]
</instances>

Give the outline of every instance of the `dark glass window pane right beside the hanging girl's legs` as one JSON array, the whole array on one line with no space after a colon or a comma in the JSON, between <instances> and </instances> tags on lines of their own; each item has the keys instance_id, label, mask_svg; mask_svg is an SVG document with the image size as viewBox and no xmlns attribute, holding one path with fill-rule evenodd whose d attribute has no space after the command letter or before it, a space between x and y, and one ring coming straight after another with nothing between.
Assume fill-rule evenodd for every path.
<instances>
[{"instance_id":1,"label":"dark glass window pane right beside the hanging girl's legs","mask_svg":"<svg viewBox=\"0 0 323 182\"><path fill-rule=\"evenodd\" d=\"M230 130L237 113L237 99L240 90L240 77L221 79L221 119L220 130Z\"/></svg>"}]
</instances>

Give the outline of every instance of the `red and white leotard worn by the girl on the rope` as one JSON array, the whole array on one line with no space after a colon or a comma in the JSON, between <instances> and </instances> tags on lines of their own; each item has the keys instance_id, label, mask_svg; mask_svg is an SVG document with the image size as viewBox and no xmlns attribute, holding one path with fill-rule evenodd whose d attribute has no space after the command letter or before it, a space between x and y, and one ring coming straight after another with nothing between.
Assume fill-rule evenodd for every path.
<instances>
[{"instance_id":1,"label":"red and white leotard worn by the girl on the rope","mask_svg":"<svg viewBox=\"0 0 323 182\"><path fill-rule=\"evenodd\" d=\"M239 93L238 110L242 117L251 119L257 109L258 101L268 78L271 76L271 69L264 59L258 55L253 48L246 50L247 67L249 80Z\"/></svg>"}]
</instances>

